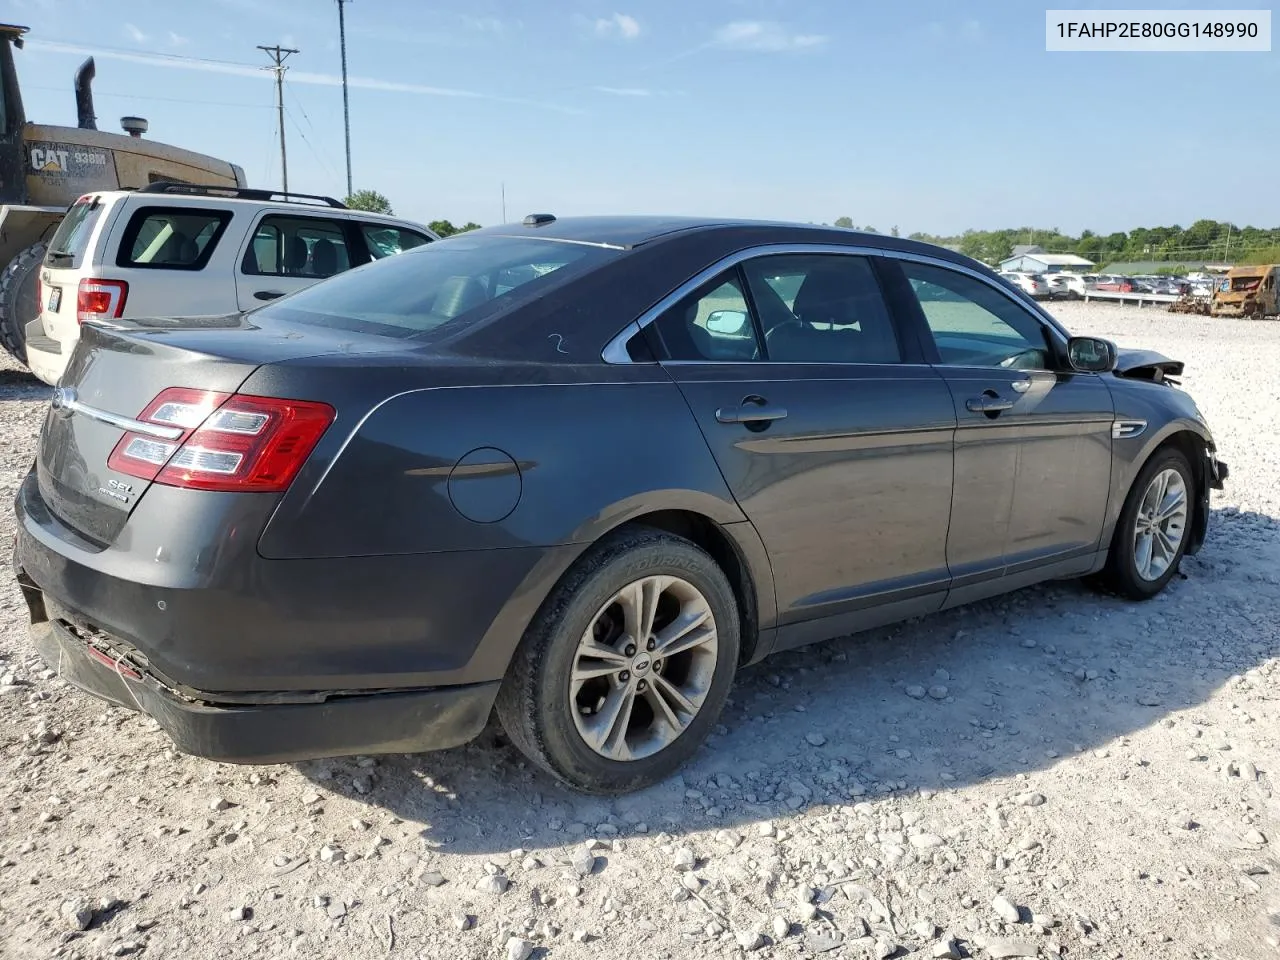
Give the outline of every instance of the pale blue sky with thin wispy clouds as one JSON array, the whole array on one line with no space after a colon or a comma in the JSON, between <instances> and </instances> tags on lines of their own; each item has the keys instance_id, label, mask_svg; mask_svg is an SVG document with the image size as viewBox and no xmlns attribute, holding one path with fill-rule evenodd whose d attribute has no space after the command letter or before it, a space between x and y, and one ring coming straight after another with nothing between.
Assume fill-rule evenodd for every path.
<instances>
[{"instance_id":1,"label":"pale blue sky with thin wispy clouds","mask_svg":"<svg viewBox=\"0 0 1280 960\"><path fill-rule=\"evenodd\" d=\"M1244 4L1183 6L1215 5ZM1280 223L1275 52L1048 54L1044 5L1025 0L346 9L355 183L415 219L497 223L506 183L508 219ZM0 0L0 19L32 28L17 55L28 119L74 124L72 76L93 52L102 129L141 114L150 137L238 163L253 186L280 175L256 45L298 47L289 182L344 192L334 0ZM1242 91L1260 99L1231 106ZM1221 115L1244 124L1229 146Z\"/></svg>"}]
</instances>

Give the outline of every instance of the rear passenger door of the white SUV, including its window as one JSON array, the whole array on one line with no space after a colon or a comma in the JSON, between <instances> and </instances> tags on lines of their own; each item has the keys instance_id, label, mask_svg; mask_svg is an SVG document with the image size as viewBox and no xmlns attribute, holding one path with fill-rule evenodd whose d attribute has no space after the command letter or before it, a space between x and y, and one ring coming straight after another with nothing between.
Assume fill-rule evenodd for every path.
<instances>
[{"instance_id":1,"label":"rear passenger door of the white SUV, including its window","mask_svg":"<svg viewBox=\"0 0 1280 960\"><path fill-rule=\"evenodd\" d=\"M366 260L346 218L268 211L241 251L236 300L241 310L252 310Z\"/></svg>"}]
</instances>

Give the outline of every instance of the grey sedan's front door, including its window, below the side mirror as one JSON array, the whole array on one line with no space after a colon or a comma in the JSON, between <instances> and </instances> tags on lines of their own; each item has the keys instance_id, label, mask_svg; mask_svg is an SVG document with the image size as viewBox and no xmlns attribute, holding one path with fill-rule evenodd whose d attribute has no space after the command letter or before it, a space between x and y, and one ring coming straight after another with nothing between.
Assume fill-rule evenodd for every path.
<instances>
[{"instance_id":1,"label":"grey sedan's front door, including its window, below the side mirror","mask_svg":"<svg viewBox=\"0 0 1280 960\"><path fill-rule=\"evenodd\" d=\"M954 589L1073 561L1088 567L1103 547L1111 484L1106 383L1070 370L1065 338L996 282L899 262L955 404ZM957 596L983 593L995 590Z\"/></svg>"}]
</instances>

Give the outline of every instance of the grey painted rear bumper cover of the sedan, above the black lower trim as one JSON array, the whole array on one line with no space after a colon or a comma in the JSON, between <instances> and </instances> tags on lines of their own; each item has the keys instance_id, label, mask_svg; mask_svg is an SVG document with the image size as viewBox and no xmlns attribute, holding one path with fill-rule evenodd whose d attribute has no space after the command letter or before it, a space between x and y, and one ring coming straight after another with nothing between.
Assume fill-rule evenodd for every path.
<instances>
[{"instance_id":1,"label":"grey painted rear bumper cover of the sedan, above the black lower trim","mask_svg":"<svg viewBox=\"0 0 1280 960\"><path fill-rule=\"evenodd\" d=\"M14 506L40 617L101 635L169 689L219 703L500 680L581 549L268 559L255 534L275 498L160 485L104 548L52 515L35 474Z\"/></svg>"}]
</instances>

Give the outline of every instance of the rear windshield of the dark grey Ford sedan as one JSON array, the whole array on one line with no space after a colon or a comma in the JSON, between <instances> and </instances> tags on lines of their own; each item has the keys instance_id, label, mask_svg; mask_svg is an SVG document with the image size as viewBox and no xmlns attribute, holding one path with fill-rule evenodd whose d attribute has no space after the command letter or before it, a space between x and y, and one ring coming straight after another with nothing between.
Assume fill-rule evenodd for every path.
<instances>
[{"instance_id":1,"label":"rear windshield of the dark grey Ford sedan","mask_svg":"<svg viewBox=\"0 0 1280 960\"><path fill-rule=\"evenodd\" d=\"M452 237L339 274L256 312L383 337L461 326L588 273L618 251L524 237Z\"/></svg>"}]
</instances>

